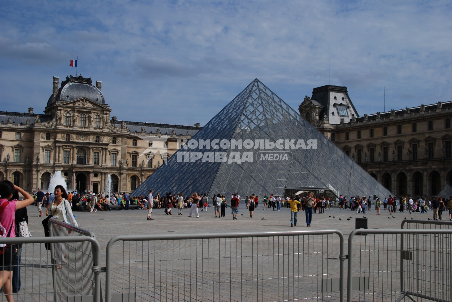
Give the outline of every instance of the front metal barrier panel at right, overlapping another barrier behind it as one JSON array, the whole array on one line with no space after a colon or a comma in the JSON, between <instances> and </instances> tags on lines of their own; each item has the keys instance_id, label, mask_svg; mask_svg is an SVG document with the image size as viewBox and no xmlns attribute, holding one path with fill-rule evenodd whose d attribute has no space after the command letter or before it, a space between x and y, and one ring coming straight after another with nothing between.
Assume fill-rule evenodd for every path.
<instances>
[{"instance_id":1,"label":"front metal barrier panel at right, overlapping another barrier behind it","mask_svg":"<svg viewBox=\"0 0 452 302\"><path fill-rule=\"evenodd\" d=\"M452 301L451 235L452 230L353 231L347 301Z\"/></svg>"}]
</instances>

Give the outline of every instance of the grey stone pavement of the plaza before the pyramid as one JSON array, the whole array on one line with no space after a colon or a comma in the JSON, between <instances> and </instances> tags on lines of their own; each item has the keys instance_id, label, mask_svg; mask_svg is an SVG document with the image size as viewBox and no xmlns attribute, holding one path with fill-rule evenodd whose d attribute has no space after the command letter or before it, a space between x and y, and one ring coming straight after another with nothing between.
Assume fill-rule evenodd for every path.
<instances>
[{"instance_id":1,"label":"grey stone pavement of the plaza before the pyramid","mask_svg":"<svg viewBox=\"0 0 452 302\"><path fill-rule=\"evenodd\" d=\"M382 210L377 216L374 209L366 214L356 214L349 209L336 208L325 210L325 214L313 214L311 228L306 228L304 212L299 212L297 227L291 228L287 208L273 211L259 207L250 218L243 205L238 220L232 219L229 208L226 217L222 218L215 218L213 208L200 211L200 218L188 218L188 212L189 209L184 209L184 215L179 216L174 209L175 214L166 215L163 209L154 209L154 221L146 220L146 210L75 212L75 215L80 227L96 234L102 250L101 265L104 266L105 247L115 235L338 229L345 235L347 249L348 234L355 228L354 218L366 216L369 228L400 229L405 217L427 220L433 214L389 215ZM43 236L42 218L37 214L36 207L28 207L30 231L33 236ZM352 218L347 221L349 217ZM378 242L385 240L388 238L379 238ZM396 247L397 244L393 246ZM287 301L301 297L338 301L339 298L338 292L322 290L322 286L326 286L322 280L339 278L337 235L117 242L113 245L113 254L113 294L134 293L137 301ZM380 256L372 255L374 257ZM397 259L394 260L394 267L386 277L398 278L395 272L399 266ZM369 269L367 267L365 271ZM101 276L104 284L105 274ZM389 293L373 298L395 300L396 290L391 288ZM359 299L357 296L353 300Z\"/></svg>"}]
</instances>

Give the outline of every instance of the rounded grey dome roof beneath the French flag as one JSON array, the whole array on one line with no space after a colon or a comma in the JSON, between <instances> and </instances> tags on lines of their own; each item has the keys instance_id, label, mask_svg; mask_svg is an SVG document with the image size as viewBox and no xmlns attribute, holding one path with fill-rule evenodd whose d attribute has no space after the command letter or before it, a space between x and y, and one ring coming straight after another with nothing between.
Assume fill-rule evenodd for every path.
<instances>
[{"instance_id":1,"label":"rounded grey dome roof beneath the French flag","mask_svg":"<svg viewBox=\"0 0 452 302\"><path fill-rule=\"evenodd\" d=\"M61 83L61 88L58 89L55 100L68 102L79 98L89 98L99 104L105 104L104 95L100 92L99 88L91 84L90 79L85 83L77 83L72 77L70 80ZM47 102L47 106L53 102L54 98L52 95Z\"/></svg>"}]
</instances>

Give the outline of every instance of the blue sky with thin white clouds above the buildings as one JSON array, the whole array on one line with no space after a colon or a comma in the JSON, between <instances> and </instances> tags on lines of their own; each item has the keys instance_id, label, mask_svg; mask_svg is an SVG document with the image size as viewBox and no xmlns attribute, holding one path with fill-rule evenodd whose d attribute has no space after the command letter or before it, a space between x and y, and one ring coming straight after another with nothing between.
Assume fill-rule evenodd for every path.
<instances>
[{"instance_id":1,"label":"blue sky with thin white clouds above the buildings","mask_svg":"<svg viewBox=\"0 0 452 302\"><path fill-rule=\"evenodd\" d=\"M100 80L112 116L204 125L253 79L297 110L347 86L359 114L452 100L450 1L2 1L4 111L52 76Z\"/></svg>"}]
</instances>

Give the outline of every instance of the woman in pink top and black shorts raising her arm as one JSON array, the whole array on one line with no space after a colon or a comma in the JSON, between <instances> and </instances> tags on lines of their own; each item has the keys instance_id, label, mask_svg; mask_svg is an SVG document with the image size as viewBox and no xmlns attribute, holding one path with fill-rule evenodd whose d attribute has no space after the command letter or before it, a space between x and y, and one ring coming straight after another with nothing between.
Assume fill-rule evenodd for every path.
<instances>
[{"instance_id":1,"label":"woman in pink top and black shorts raising her arm","mask_svg":"<svg viewBox=\"0 0 452 302\"><path fill-rule=\"evenodd\" d=\"M25 199L24 200L11 200L14 191L18 190ZM33 197L19 188L13 185L11 181L0 181L0 223L3 227L1 234L6 237L16 237L15 225L15 213L16 209L22 209L34 202ZM14 245L6 245L0 247L0 282L3 284L3 292L5 293L6 300L8 302L14 301L12 296L12 279L13 272L11 263L16 258L17 249Z\"/></svg>"}]
</instances>

